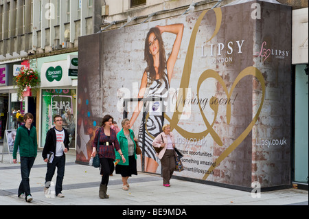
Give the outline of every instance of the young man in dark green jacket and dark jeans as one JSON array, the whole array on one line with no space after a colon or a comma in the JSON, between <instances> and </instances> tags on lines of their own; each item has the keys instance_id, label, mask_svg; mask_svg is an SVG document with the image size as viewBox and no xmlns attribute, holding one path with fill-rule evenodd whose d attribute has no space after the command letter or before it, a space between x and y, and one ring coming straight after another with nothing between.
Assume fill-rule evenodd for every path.
<instances>
[{"instance_id":1,"label":"young man in dark green jacket and dark jeans","mask_svg":"<svg viewBox=\"0 0 309 219\"><path fill-rule=\"evenodd\" d=\"M23 117L25 125L19 127L14 142L13 162L17 163L17 150L21 157L21 184L19 185L19 198L25 198L27 202L32 201L30 193L29 176L30 170L36 159L38 143L36 140L36 128L32 126L33 115L26 113Z\"/></svg>"}]
</instances>

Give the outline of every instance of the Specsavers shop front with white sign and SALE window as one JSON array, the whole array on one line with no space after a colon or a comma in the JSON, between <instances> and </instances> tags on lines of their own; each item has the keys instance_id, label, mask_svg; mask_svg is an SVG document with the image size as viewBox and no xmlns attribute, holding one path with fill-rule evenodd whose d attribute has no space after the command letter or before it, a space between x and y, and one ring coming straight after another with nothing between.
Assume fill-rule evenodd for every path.
<instances>
[{"instance_id":1,"label":"Specsavers shop front with white sign and SALE window","mask_svg":"<svg viewBox=\"0 0 309 219\"><path fill-rule=\"evenodd\" d=\"M41 71L40 148L45 145L47 131L54 127L54 115L62 117L62 126L70 135L69 147L76 148L77 80L76 77L69 76L70 60L69 54L37 59L38 69Z\"/></svg>"}]
</instances>

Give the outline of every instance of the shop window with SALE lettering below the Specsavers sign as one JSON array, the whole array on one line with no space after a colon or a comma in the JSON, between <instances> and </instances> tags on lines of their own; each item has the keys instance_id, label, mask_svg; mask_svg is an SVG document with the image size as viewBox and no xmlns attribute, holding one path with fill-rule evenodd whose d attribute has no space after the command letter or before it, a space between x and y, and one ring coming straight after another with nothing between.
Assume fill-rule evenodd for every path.
<instances>
[{"instance_id":1,"label":"shop window with SALE lettering below the Specsavers sign","mask_svg":"<svg viewBox=\"0 0 309 219\"><path fill-rule=\"evenodd\" d=\"M76 89L42 90L41 147L45 145L46 133L54 127L54 115L61 115L62 127L69 132L70 148L75 148Z\"/></svg>"}]
</instances>

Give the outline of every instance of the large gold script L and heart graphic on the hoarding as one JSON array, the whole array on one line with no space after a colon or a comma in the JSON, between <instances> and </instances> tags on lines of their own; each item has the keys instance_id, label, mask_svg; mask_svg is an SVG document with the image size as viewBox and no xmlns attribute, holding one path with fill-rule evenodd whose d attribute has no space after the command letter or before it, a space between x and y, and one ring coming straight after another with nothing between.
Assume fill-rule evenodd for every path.
<instances>
[{"instance_id":1,"label":"large gold script L and heart graphic on the hoarding","mask_svg":"<svg viewBox=\"0 0 309 219\"><path fill-rule=\"evenodd\" d=\"M194 54L194 45L195 45L195 41L196 41L196 34L198 32L198 27L201 24L201 21L203 20L205 14L208 11L209 10L205 10L204 12L201 13L201 15L198 17L198 19L196 21L196 24L194 25L194 29L192 30L190 43L189 43L188 49L187 49L187 56L185 57L185 65L183 67L183 76L181 78L181 84L180 84L180 88L183 89L183 91L185 91L185 94L177 97L177 102L176 102L177 106L178 106L178 103L181 103L183 106L185 104L185 97L187 96L187 89L185 89L185 88L187 88L189 86L189 82L190 82L192 60L193 60L193 54ZM214 38L214 36L216 36L216 34L218 34L218 31L220 30L220 25L221 25L221 22L222 22L222 11L221 11L221 9L215 8L214 12L216 14L216 28L214 30L214 34L211 36L211 38L209 38L209 40L207 42L211 41L211 39ZM229 99L229 98L231 98L231 94L233 93L233 89L236 87L238 82L240 82L240 80L242 78L244 78L246 76L250 76L250 75L255 76L255 78L258 78L258 80L260 81L261 86L262 86L262 100L261 100L260 106L258 108L258 112L256 113L255 117L253 117L253 120L249 124L249 126L247 126L247 128L242 132L242 134L231 144L231 146L229 146L229 148L227 148L224 152L222 152L222 154L220 154L220 156L218 157L218 159L216 159L214 164L211 165L211 167L207 171L207 174L205 174L205 176L203 177L203 180L206 180L207 177L209 176L209 174L212 172L212 170L214 170L214 168L216 168L220 164L220 162L223 159L225 159L233 150L235 150L240 145L240 143L249 135L253 126L257 122L258 117L260 115L260 112L262 110L262 106L264 104L264 97L265 97L266 89L265 89L264 77L262 76L262 73L255 67L247 67L242 72L240 72L240 74L237 76L236 80L233 82L233 86L231 87L230 91L227 90L225 82L218 75L218 73L214 70L208 69L208 70L204 71L201 74L200 78L198 79L198 86L197 86L198 99L199 99L199 90L200 90L201 84L207 78L215 78L216 80L218 80L218 82L220 82L220 84L224 88L225 93L227 94L227 98ZM181 98L182 98L182 100L181 100ZM215 132L215 130L212 128L214 126L214 122L216 121L216 117L217 117L217 113L218 113L218 105L213 104L211 106L211 108L215 112L214 121L212 122L212 124L209 124L209 122L207 121L205 114L202 111L200 103L199 103L199 108L200 108L203 120L205 122L205 125L207 126L207 129L204 130L203 132L192 133L192 132L188 132L187 130L184 130L183 128L178 126L179 119L181 117L181 114L183 113L182 112L183 107L175 109L175 112L172 115L172 119L170 117L168 117L166 114L164 114L164 117L165 117L165 119L168 120L168 122L170 122L171 131L173 129L175 129L179 132L180 135L182 135L185 138L190 137L190 138L196 138L196 139L203 138L203 137L207 136L208 134L210 134L211 137L213 137L214 141L216 143L218 143L219 146L222 146L222 141L221 141L220 137ZM231 121L231 105L227 104L227 123L229 124L230 121Z\"/></svg>"}]
</instances>

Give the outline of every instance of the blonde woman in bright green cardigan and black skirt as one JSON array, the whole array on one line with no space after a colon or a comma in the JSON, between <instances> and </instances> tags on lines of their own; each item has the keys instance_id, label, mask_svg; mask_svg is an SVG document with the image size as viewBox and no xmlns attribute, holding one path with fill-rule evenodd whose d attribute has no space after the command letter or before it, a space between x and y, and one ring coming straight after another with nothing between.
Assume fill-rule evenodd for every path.
<instances>
[{"instance_id":1,"label":"blonde woman in bright green cardigan and black skirt","mask_svg":"<svg viewBox=\"0 0 309 219\"><path fill-rule=\"evenodd\" d=\"M128 190L130 185L128 185L128 178L130 176L137 175L136 168L136 144L137 141L133 130L130 129L130 120L124 119L122 120L122 130L118 132L117 139L122 150L122 154L124 154L124 158L126 162L122 162L120 154L116 153L116 160L120 160L116 165L116 174L122 175L122 189Z\"/></svg>"}]
</instances>

